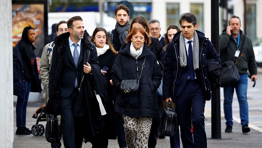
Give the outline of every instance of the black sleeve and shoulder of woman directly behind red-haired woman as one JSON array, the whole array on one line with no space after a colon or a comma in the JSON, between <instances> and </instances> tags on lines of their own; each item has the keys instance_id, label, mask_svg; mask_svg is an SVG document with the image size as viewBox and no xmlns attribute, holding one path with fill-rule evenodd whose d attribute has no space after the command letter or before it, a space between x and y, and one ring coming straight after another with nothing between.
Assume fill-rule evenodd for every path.
<instances>
[{"instance_id":1,"label":"black sleeve and shoulder of woman directly behind red-haired woman","mask_svg":"<svg viewBox=\"0 0 262 148\"><path fill-rule=\"evenodd\" d=\"M151 37L151 44L149 44L149 49L152 53L154 53L158 61L164 63L165 51L158 39Z\"/></svg>"}]
</instances>

